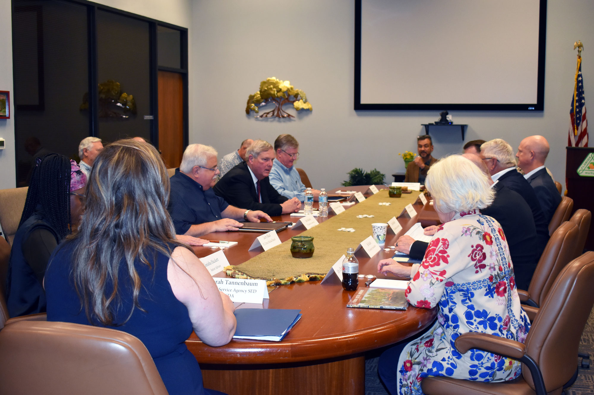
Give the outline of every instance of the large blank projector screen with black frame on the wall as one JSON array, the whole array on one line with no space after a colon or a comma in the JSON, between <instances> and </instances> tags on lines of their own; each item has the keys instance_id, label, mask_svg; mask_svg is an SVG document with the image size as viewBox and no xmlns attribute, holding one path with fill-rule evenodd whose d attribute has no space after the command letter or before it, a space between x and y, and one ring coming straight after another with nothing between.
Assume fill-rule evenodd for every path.
<instances>
[{"instance_id":1,"label":"large blank projector screen with black frame on the wall","mask_svg":"<svg viewBox=\"0 0 594 395\"><path fill-rule=\"evenodd\" d=\"M355 0L355 110L544 109L546 0Z\"/></svg>"}]
</instances>

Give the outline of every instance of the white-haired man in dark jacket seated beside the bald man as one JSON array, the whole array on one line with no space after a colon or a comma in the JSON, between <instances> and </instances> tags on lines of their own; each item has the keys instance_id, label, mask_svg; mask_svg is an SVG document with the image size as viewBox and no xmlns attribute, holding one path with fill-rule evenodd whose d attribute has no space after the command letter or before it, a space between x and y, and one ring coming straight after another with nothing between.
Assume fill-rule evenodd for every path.
<instances>
[{"instance_id":1,"label":"white-haired man in dark jacket seated beside the bald man","mask_svg":"<svg viewBox=\"0 0 594 395\"><path fill-rule=\"evenodd\" d=\"M493 181L516 191L526 200L532 210L539 248L542 247L544 250L549 240L549 221L547 221L542 211L541 203L538 201L534 189L522 174L516 170L516 157L511 145L502 139L487 141L481 145L479 156L489 169Z\"/></svg>"}]
</instances>

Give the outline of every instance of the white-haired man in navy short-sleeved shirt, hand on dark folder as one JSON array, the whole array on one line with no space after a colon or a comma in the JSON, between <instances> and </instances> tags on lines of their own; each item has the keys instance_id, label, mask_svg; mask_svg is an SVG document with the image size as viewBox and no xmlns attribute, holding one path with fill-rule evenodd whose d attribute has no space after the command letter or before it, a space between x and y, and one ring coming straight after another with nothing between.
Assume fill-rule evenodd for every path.
<instances>
[{"instance_id":1,"label":"white-haired man in navy short-sleeved shirt, hand on dark folder","mask_svg":"<svg viewBox=\"0 0 594 395\"><path fill-rule=\"evenodd\" d=\"M212 186L218 175L217 151L208 145L188 145L181 165L170 178L168 210L176 234L197 237L212 232L236 231L244 226L238 219L272 221L264 212L231 206L216 196Z\"/></svg>"}]
</instances>

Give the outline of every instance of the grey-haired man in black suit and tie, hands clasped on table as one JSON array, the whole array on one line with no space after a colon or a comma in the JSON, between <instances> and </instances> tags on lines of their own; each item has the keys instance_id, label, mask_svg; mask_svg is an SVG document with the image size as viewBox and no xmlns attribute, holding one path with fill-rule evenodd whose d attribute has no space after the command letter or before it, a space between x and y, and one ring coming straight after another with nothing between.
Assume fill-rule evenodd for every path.
<instances>
[{"instance_id":1,"label":"grey-haired man in black suit and tie, hands clasped on table","mask_svg":"<svg viewBox=\"0 0 594 395\"><path fill-rule=\"evenodd\" d=\"M256 140L246 155L246 162L233 167L214 185L214 193L233 206L261 210L271 216L299 211L298 198L287 199L270 185L268 174L274 161L273 146Z\"/></svg>"}]
</instances>

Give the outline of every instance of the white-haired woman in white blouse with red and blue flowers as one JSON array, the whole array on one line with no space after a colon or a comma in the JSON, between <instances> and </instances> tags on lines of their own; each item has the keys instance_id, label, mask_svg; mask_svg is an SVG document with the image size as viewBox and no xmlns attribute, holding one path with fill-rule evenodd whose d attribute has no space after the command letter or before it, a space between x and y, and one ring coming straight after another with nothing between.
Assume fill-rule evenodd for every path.
<instances>
[{"instance_id":1,"label":"white-haired woman in white blouse with red and blue flowers","mask_svg":"<svg viewBox=\"0 0 594 395\"><path fill-rule=\"evenodd\" d=\"M426 376L512 380L520 374L520 362L477 349L460 354L454 346L466 332L524 342L530 328L503 230L479 211L493 200L489 182L475 164L453 155L431 167L425 186L443 225L421 265L385 259L378 271L412 278L407 300L422 308L438 305L437 321L418 339L384 352L380 376L392 394L422 394Z\"/></svg>"}]
</instances>

